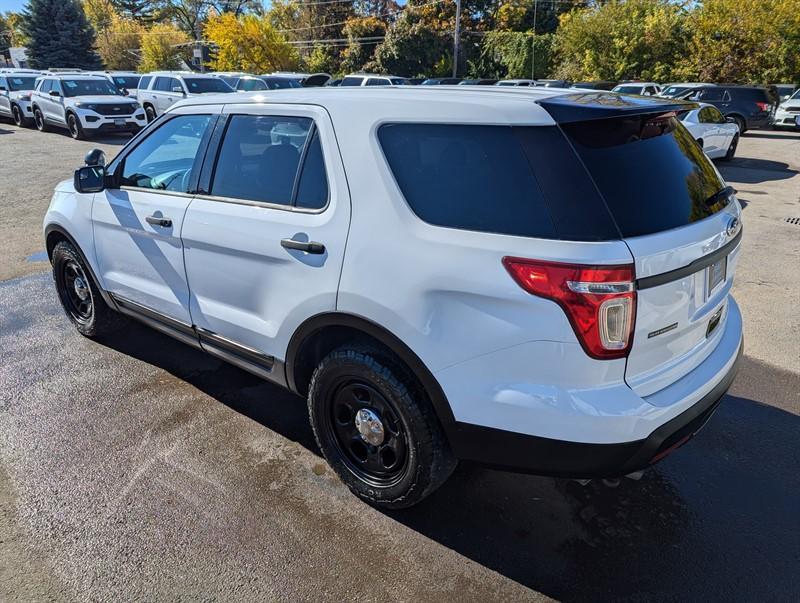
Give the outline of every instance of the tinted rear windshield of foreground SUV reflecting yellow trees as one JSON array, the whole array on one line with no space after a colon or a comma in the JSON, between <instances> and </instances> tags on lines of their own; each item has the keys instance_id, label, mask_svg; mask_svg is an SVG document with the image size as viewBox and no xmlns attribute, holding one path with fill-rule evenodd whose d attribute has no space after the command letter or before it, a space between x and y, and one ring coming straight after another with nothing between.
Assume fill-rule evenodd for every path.
<instances>
[{"instance_id":1,"label":"tinted rear windshield of foreground SUV reflecting yellow trees","mask_svg":"<svg viewBox=\"0 0 800 603\"><path fill-rule=\"evenodd\" d=\"M685 226L721 209L716 170L674 117L633 116L562 125L625 237Z\"/></svg>"}]
</instances>

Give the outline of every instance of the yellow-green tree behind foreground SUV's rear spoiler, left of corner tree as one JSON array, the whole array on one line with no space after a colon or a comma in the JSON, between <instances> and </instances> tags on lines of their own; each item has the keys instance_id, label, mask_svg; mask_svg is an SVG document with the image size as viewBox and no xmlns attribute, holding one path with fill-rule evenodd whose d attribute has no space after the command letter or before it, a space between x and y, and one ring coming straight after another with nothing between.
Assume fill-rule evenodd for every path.
<instances>
[{"instance_id":1,"label":"yellow-green tree behind foreground SUV's rear spoiler, left of corner tree","mask_svg":"<svg viewBox=\"0 0 800 603\"><path fill-rule=\"evenodd\" d=\"M609 0L565 13L556 31L564 79L673 78L686 53L686 12L670 0Z\"/></svg>"}]
</instances>

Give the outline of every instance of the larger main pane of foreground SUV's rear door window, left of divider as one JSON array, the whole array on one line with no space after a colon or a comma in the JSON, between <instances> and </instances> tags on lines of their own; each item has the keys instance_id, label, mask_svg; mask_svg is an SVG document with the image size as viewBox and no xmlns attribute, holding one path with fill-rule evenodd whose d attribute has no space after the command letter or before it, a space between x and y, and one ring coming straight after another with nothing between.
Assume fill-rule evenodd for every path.
<instances>
[{"instance_id":1,"label":"larger main pane of foreground SUV's rear door window, left of divider","mask_svg":"<svg viewBox=\"0 0 800 603\"><path fill-rule=\"evenodd\" d=\"M290 205L311 126L304 117L231 117L211 194Z\"/></svg>"}]
</instances>

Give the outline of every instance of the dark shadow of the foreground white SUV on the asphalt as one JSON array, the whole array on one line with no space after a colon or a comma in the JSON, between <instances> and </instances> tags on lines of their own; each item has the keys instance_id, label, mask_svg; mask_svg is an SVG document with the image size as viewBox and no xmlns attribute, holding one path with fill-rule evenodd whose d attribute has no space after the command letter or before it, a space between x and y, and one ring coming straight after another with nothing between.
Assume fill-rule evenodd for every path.
<instances>
[{"instance_id":1,"label":"dark shadow of the foreground white SUV on the asphalt","mask_svg":"<svg viewBox=\"0 0 800 603\"><path fill-rule=\"evenodd\" d=\"M319 455L299 397L137 324L105 345ZM800 376L745 357L703 433L639 481L581 486L462 463L418 506L385 514L560 600L793 600L800 401L786 392Z\"/></svg>"}]
</instances>

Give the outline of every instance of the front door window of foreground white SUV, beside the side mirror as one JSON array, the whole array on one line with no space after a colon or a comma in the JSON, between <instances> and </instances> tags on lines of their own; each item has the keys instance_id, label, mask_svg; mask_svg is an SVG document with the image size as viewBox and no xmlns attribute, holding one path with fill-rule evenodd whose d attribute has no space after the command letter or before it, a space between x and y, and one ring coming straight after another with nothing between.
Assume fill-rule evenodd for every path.
<instances>
[{"instance_id":1,"label":"front door window of foreground white SUV, beside the side mirror","mask_svg":"<svg viewBox=\"0 0 800 603\"><path fill-rule=\"evenodd\" d=\"M180 115L165 122L125 157L121 186L186 193L210 115Z\"/></svg>"}]
</instances>

